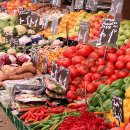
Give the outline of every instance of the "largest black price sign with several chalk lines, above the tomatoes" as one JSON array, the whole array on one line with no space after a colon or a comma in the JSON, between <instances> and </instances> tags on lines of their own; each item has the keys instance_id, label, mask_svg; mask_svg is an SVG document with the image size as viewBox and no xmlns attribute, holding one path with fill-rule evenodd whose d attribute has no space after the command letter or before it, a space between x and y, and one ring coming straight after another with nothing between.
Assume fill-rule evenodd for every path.
<instances>
[{"instance_id":1,"label":"largest black price sign with several chalk lines, above the tomatoes","mask_svg":"<svg viewBox=\"0 0 130 130\"><path fill-rule=\"evenodd\" d=\"M99 42L115 44L121 18L103 18Z\"/></svg>"}]
</instances>

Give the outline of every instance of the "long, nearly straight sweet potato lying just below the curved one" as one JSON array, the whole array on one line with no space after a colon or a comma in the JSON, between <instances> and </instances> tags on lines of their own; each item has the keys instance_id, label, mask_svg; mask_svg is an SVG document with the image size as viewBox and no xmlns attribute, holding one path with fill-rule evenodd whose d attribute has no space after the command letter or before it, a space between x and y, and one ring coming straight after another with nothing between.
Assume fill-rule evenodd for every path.
<instances>
[{"instance_id":1,"label":"long, nearly straight sweet potato lying just below the curved one","mask_svg":"<svg viewBox=\"0 0 130 130\"><path fill-rule=\"evenodd\" d=\"M28 78L28 77L32 77L33 74L30 72L26 72L23 74L19 74L19 75L13 75L13 76L8 76L8 80L18 80L18 79L24 79L24 78Z\"/></svg>"}]
</instances>

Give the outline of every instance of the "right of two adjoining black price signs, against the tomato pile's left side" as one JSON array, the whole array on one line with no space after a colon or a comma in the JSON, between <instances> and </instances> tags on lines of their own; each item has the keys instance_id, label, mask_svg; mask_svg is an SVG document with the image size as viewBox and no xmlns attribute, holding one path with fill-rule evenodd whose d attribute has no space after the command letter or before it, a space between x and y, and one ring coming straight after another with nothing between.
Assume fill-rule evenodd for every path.
<instances>
[{"instance_id":1,"label":"right of two adjoining black price signs, against the tomato pile's left side","mask_svg":"<svg viewBox=\"0 0 130 130\"><path fill-rule=\"evenodd\" d=\"M60 66L59 82L62 83L67 89L69 84L70 70Z\"/></svg>"}]
</instances>

